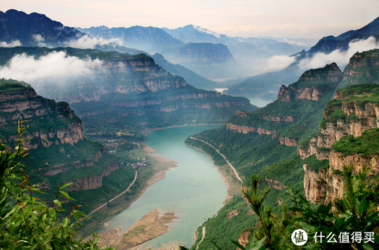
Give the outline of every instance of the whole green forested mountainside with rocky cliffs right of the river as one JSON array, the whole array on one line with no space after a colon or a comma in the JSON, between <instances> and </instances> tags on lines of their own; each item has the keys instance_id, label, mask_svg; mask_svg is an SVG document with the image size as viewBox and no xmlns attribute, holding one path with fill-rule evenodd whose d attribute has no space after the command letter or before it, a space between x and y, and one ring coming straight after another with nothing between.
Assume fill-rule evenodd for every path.
<instances>
[{"instance_id":1,"label":"whole green forested mountainside with rocky cliffs right of the river","mask_svg":"<svg viewBox=\"0 0 379 250\"><path fill-rule=\"evenodd\" d=\"M371 61L376 53L377 50L355 54L343 74L335 64L309 70L295 84L282 86L274 103L251 113L237 112L226 126L195 136L227 156L244 177L244 185L248 185L251 173L260 173L262 187L272 187L265 204L272 206L277 214L280 204L291 204L284 192L288 185L295 189L304 187L303 192L311 202L331 202L343 193L343 164L354 164L355 172L364 168L364 164L370 165L371 176L378 174L375 151L378 85L362 84L378 81L373 74L375 62ZM359 85L335 93L338 84L344 82ZM331 100L334 95L335 99ZM225 164L204 143L191 139L187 143L206 151L216 164ZM211 246L211 241L228 244L229 239L237 240L239 233L221 229L239 228L241 232L247 228L248 232L255 225L255 218L244 199L236 195L199 227L199 235L204 225L210 233L199 247L206 248ZM199 239L194 246L197 244Z\"/></svg>"}]
</instances>

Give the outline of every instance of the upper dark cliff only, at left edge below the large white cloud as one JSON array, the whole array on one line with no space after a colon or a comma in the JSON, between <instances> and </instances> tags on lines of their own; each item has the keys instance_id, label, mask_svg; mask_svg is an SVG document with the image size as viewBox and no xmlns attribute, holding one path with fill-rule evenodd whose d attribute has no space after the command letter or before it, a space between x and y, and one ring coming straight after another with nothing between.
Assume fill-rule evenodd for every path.
<instances>
[{"instance_id":1,"label":"upper dark cliff only, at left edge below the large white cloud","mask_svg":"<svg viewBox=\"0 0 379 250\"><path fill-rule=\"evenodd\" d=\"M37 147L50 147L51 145L60 145L74 143L83 140L83 129L81 120L69 108L67 103L55 103L37 96L31 87L22 85L3 85L0 89L0 129L4 142L15 140L15 128L18 120L28 120L28 126L31 126L25 134L27 140L25 146L30 149ZM56 126L55 123L64 124ZM13 136L12 136L13 135Z\"/></svg>"}]
</instances>

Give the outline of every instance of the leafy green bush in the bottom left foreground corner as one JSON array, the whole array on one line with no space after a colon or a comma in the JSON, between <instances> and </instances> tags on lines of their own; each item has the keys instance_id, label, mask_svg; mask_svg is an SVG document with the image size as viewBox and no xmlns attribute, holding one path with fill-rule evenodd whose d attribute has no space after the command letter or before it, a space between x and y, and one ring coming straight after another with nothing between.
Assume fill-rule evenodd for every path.
<instances>
[{"instance_id":1,"label":"leafy green bush in the bottom left foreground corner","mask_svg":"<svg viewBox=\"0 0 379 250\"><path fill-rule=\"evenodd\" d=\"M27 149L22 148L26 127L22 123L18 122L15 147L0 143L0 249L100 249L97 235L88 241L77 238L77 227L81 226L81 216L85 216L76 210L77 206L72 206L67 216L61 216L61 221L58 218L65 211L58 198L71 199L63 191L71 183L58 188L53 202L33 196L41 191L22 171L21 160L28 156Z\"/></svg>"}]
</instances>

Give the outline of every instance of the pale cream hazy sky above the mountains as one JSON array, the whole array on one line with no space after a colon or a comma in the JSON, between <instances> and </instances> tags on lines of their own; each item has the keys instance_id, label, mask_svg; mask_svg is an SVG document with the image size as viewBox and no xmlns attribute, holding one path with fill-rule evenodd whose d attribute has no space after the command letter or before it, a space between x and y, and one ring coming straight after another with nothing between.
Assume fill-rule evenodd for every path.
<instances>
[{"instance_id":1,"label":"pale cream hazy sky above the mountains","mask_svg":"<svg viewBox=\"0 0 379 250\"><path fill-rule=\"evenodd\" d=\"M359 29L379 17L378 0L2 0L69 27L199 25L231 37L320 39Z\"/></svg>"}]
</instances>

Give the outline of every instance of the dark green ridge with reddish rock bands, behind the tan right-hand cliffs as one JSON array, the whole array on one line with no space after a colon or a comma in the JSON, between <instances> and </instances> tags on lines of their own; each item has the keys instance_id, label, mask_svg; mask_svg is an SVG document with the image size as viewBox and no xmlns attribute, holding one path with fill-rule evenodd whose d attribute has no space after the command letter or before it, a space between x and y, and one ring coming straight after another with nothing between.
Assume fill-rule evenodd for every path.
<instances>
[{"instance_id":1,"label":"dark green ridge with reddish rock bands, behind the tan right-hand cliffs","mask_svg":"<svg viewBox=\"0 0 379 250\"><path fill-rule=\"evenodd\" d=\"M281 86L277 101L253 113L237 113L226 128L239 133L255 131L272 135L279 144L295 147L303 136L295 133L300 127L310 129L312 125L317 131L316 122L310 121L310 117L321 119L322 111L341 79L342 72L335 63L308 70L294 84Z\"/></svg>"}]
</instances>

